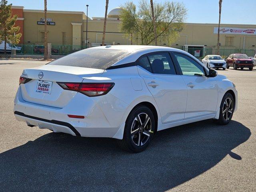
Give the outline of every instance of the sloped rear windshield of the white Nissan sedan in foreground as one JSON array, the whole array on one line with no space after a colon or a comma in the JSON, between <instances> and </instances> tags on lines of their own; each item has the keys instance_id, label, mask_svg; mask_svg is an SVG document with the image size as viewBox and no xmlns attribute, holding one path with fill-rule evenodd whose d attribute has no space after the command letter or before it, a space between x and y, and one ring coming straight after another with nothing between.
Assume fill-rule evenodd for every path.
<instances>
[{"instance_id":1,"label":"sloped rear windshield of the white Nissan sedan in foreground","mask_svg":"<svg viewBox=\"0 0 256 192\"><path fill-rule=\"evenodd\" d=\"M130 52L118 49L84 49L59 58L48 65L107 69L128 54Z\"/></svg>"}]
</instances>

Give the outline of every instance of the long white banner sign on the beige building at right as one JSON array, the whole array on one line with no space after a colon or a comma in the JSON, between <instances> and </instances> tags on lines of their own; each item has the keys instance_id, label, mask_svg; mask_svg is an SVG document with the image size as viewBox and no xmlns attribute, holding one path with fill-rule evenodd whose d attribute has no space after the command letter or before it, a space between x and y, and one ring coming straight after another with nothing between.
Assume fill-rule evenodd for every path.
<instances>
[{"instance_id":1,"label":"long white banner sign on the beige building at right","mask_svg":"<svg viewBox=\"0 0 256 192\"><path fill-rule=\"evenodd\" d=\"M218 27L214 27L214 33L218 34ZM231 28L231 27L220 27L220 34L246 34L255 35L256 28Z\"/></svg>"}]
</instances>

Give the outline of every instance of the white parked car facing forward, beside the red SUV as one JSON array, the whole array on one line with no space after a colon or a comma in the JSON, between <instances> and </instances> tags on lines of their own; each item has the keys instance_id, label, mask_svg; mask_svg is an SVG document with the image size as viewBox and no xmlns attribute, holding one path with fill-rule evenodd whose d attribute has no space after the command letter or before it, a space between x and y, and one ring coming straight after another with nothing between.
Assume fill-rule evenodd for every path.
<instances>
[{"instance_id":1,"label":"white parked car facing forward, beside the red SUV","mask_svg":"<svg viewBox=\"0 0 256 192\"><path fill-rule=\"evenodd\" d=\"M206 55L202 59L202 63L207 68L222 68L226 70L226 61L219 55Z\"/></svg>"}]
</instances>

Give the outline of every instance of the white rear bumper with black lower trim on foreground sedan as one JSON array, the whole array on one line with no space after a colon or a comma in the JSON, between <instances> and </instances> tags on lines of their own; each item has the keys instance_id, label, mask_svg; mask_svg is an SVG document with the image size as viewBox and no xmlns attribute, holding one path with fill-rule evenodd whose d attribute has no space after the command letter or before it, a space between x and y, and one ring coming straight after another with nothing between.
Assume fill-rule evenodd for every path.
<instances>
[{"instance_id":1,"label":"white rear bumper with black lower trim on foreground sedan","mask_svg":"<svg viewBox=\"0 0 256 192\"><path fill-rule=\"evenodd\" d=\"M23 100L20 87L14 100L14 115L18 121L26 122L29 126L84 137L122 139L123 133L119 130L124 126L122 119L127 108L128 104L112 94L89 98L80 93L64 108L44 106ZM68 114L85 118L70 118Z\"/></svg>"}]
</instances>

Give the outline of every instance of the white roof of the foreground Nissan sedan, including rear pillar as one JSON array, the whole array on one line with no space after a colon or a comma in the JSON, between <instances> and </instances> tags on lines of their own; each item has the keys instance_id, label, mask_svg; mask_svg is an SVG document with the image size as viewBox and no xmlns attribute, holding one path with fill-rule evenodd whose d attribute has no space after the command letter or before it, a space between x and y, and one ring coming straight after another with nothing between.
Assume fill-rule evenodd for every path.
<instances>
[{"instance_id":1,"label":"white roof of the foreground Nissan sedan, including rear pillar","mask_svg":"<svg viewBox=\"0 0 256 192\"><path fill-rule=\"evenodd\" d=\"M115 50L126 50L130 52L130 54L128 54L126 57L122 58L118 62L114 63L112 66L135 62L140 56L144 54L148 54L150 52L176 51L176 52L182 52L184 54L188 54L188 52L185 52L183 50L176 49L176 48L170 48L170 47L164 47L164 46L150 46L150 45L109 45L109 46L92 47L90 49L102 49L102 50L115 49ZM195 58L194 56L192 57Z\"/></svg>"}]
</instances>

